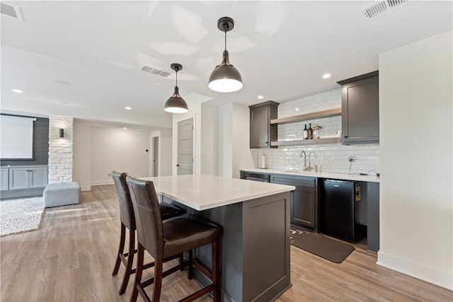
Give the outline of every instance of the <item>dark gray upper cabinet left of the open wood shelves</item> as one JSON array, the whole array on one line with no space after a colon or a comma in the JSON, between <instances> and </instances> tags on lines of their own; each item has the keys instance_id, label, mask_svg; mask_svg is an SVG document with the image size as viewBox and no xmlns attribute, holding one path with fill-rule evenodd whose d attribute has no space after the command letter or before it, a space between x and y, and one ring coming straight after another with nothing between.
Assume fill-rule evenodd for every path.
<instances>
[{"instance_id":1,"label":"dark gray upper cabinet left of the open wood shelves","mask_svg":"<svg viewBox=\"0 0 453 302\"><path fill-rule=\"evenodd\" d=\"M277 141L277 124L270 124L276 119L279 103L268 100L264 103L248 106L250 108L250 149L277 148L270 146L271 141Z\"/></svg>"}]
</instances>

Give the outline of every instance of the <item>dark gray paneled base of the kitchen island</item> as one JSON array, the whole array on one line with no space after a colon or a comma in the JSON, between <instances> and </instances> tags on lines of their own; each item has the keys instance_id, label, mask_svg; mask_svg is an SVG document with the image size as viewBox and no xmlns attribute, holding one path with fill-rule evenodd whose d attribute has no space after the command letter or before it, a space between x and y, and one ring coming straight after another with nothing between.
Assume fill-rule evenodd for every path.
<instances>
[{"instance_id":1,"label":"dark gray paneled base of the kitchen island","mask_svg":"<svg viewBox=\"0 0 453 302\"><path fill-rule=\"evenodd\" d=\"M222 226L222 301L274 301L289 289L289 192L203 211L162 199ZM211 267L209 245L194 256ZM210 283L200 272L195 279Z\"/></svg>"}]
</instances>

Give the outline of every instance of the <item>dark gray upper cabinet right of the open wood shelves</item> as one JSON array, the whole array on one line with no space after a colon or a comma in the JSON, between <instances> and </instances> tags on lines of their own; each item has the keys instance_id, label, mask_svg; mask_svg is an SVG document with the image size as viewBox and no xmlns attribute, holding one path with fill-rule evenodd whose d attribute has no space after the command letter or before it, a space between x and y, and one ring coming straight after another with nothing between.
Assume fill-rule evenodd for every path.
<instances>
[{"instance_id":1,"label":"dark gray upper cabinet right of the open wood shelves","mask_svg":"<svg viewBox=\"0 0 453 302\"><path fill-rule=\"evenodd\" d=\"M379 71L337 82L343 144L379 144Z\"/></svg>"}]
</instances>

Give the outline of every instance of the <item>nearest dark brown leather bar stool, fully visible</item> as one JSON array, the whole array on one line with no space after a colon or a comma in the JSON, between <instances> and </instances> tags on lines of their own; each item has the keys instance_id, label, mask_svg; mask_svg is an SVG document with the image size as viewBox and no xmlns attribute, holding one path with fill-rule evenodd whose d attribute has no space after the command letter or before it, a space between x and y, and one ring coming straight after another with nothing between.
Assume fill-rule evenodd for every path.
<instances>
[{"instance_id":1,"label":"nearest dark brown leather bar stool, fully visible","mask_svg":"<svg viewBox=\"0 0 453 302\"><path fill-rule=\"evenodd\" d=\"M220 233L219 226L197 219L194 215L181 216L161 220L159 202L153 182L137 180L127 176L135 221L137 222L137 272L135 274L134 291L131 302L137 301L138 294L145 301L159 301L161 296L162 278L188 265L188 279L192 279L193 266L197 267L212 284L183 298L181 301L194 301L210 291L214 292L214 301L220 301ZM202 245L212 245L212 270L209 271L192 256L192 250ZM144 250L154 258L154 277L142 281ZM175 259L181 252L188 252L188 260L163 272L164 262ZM154 284L152 300L144 291L146 286Z\"/></svg>"}]
</instances>

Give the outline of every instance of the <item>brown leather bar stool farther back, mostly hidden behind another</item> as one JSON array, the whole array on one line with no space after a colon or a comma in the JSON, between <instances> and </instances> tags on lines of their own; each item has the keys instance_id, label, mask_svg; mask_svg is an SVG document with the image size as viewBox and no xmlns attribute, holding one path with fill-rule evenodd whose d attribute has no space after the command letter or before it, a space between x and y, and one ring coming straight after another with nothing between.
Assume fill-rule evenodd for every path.
<instances>
[{"instance_id":1,"label":"brown leather bar stool farther back, mostly hidden behind another","mask_svg":"<svg viewBox=\"0 0 453 302\"><path fill-rule=\"evenodd\" d=\"M122 278L122 284L120 287L120 295L124 294L127 288L127 283L131 274L134 274L136 269L132 269L132 262L134 262L134 253L137 252L135 249L135 216L134 208L132 207L132 201L130 199L129 187L126 183L126 173L119 173L117 171L112 172L113 181L116 185L118 194L118 201L120 202L120 220L121 220L121 234L120 234L120 246L115 260L115 267L113 267L112 275L115 276L120 269L121 262L125 265L125 275ZM169 219L174 216L184 214L185 211L175 207L171 204L159 204L159 211L161 211L162 219ZM126 228L129 230L129 252L124 252L125 248L125 237ZM180 262L183 260L183 255L180 255ZM146 265L144 268L151 267L152 265Z\"/></svg>"}]
</instances>

